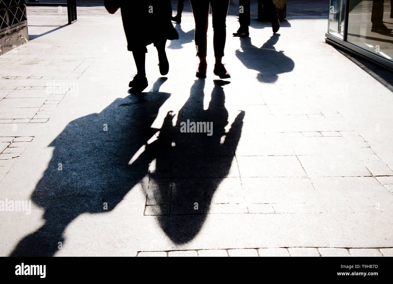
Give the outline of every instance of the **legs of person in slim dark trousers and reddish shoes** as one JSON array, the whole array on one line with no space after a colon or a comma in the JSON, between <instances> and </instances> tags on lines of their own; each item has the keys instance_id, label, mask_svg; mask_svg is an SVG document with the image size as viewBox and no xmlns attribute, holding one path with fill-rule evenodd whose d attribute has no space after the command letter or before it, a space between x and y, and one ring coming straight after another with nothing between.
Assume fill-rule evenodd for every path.
<instances>
[{"instance_id":1,"label":"legs of person in slim dark trousers and reddish shoes","mask_svg":"<svg viewBox=\"0 0 393 284\"><path fill-rule=\"evenodd\" d=\"M205 78L207 70L207 33L209 24L209 9L213 16L213 46L215 65L213 73L221 79L230 78L231 75L222 64L226 40L226 15L228 14L229 0L190 0L195 20L195 45L199 57L196 77Z\"/></svg>"}]
</instances>

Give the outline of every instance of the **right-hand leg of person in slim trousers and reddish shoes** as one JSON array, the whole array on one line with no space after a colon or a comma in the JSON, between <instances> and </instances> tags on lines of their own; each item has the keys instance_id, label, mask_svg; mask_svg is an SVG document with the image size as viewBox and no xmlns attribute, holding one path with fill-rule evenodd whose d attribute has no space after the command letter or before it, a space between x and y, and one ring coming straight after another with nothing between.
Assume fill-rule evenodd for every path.
<instances>
[{"instance_id":1,"label":"right-hand leg of person in slim trousers and reddish shoes","mask_svg":"<svg viewBox=\"0 0 393 284\"><path fill-rule=\"evenodd\" d=\"M214 73L220 78L230 78L231 76L222 65L226 41L226 16L228 14L229 0L211 0L211 13L213 16L213 46L216 63Z\"/></svg>"}]
</instances>

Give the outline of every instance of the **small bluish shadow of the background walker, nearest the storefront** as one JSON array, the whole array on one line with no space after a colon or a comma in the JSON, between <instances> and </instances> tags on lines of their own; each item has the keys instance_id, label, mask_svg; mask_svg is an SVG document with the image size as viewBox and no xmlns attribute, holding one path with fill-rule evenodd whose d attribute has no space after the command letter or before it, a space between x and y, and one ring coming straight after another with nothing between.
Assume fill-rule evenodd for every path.
<instances>
[{"instance_id":1,"label":"small bluish shadow of the background walker, nearest the storefront","mask_svg":"<svg viewBox=\"0 0 393 284\"><path fill-rule=\"evenodd\" d=\"M260 48L253 46L250 37L240 37L242 51L236 50L236 56L248 69L259 72L260 82L274 83L279 74L293 71L294 61L274 47L279 37L278 33L273 34Z\"/></svg>"}]
</instances>

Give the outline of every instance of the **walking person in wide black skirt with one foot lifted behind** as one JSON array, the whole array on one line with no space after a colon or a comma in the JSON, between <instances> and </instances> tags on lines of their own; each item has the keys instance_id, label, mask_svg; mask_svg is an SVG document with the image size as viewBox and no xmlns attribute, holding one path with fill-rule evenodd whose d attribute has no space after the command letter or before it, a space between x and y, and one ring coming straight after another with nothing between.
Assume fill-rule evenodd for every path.
<instances>
[{"instance_id":1,"label":"walking person in wide black skirt with one foot lifted behind","mask_svg":"<svg viewBox=\"0 0 393 284\"><path fill-rule=\"evenodd\" d=\"M129 87L133 92L142 92L148 86L145 70L146 53L149 44L154 44L158 52L160 74L169 72L169 62L165 53L166 41L178 39L171 16L170 0L147 1L105 1L109 13L121 8L121 18L127 37L127 48L132 51L137 74L130 81ZM109 9L108 9L109 7ZM138 32L136 30L138 29Z\"/></svg>"}]
</instances>

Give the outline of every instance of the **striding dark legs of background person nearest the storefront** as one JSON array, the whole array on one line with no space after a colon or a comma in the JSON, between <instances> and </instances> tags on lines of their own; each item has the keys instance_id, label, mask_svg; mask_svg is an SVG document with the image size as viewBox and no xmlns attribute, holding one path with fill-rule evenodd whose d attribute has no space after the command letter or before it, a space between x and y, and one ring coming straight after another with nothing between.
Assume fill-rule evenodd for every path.
<instances>
[{"instance_id":1,"label":"striding dark legs of background person nearest the storefront","mask_svg":"<svg viewBox=\"0 0 393 284\"><path fill-rule=\"evenodd\" d=\"M277 33L280 28L280 21L275 9L273 0L260 0L269 15L270 22L272 22L273 33ZM250 26L250 0L239 1L239 23L240 28L236 33L233 33L235 37L244 37L250 35L248 26Z\"/></svg>"}]
</instances>

